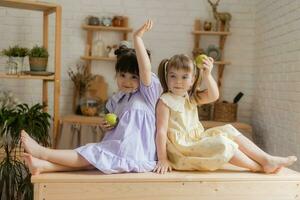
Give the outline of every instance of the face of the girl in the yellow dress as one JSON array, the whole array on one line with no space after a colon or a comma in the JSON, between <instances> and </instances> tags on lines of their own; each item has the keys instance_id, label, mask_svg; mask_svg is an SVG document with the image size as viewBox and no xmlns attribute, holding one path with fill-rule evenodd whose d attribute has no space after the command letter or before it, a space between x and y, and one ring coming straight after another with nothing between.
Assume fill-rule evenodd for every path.
<instances>
[{"instance_id":1,"label":"face of the girl in the yellow dress","mask_svg":"<svg viewBox=\"0 0 300 200\"><path fill-rule=\"evenodd\" d=\"M171 67L167 74L167 85L173 94L184 96L191 89L194 83L193 71L176 69Z\"/></svg>"}]
</instances>

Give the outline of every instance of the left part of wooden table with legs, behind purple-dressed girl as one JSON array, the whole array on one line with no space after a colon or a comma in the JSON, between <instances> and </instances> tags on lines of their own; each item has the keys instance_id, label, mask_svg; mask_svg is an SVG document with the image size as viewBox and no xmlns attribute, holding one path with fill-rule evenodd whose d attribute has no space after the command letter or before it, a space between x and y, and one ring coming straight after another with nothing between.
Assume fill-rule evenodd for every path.
<instances>
[{"instance_id":1,"label":"left part of wooden table with legs, behind purple-dressed girl","mask_svg":"<svg viewBox=\"0 0 300 200\"><path fill-rule=\"evenodd\" d=\"M71 125L72 132L77 134L77 146L79 146L81 141L81 128L83 125L91 126L92 131L94 133L94 139L96 139L95 137L97 135L97 128L100 129L99 127L100 117L86 117L82 115L67 115L62 117L59 120L59 130L57 131L57 137L55 138L54 141L54 148L57 147L58 142L61 139L61 134L62 134L61 132L64 124ZM72 136L71 143L74 140L75 137L74 135L75 134L73 134Z\"/></svg>"}]
</instances>

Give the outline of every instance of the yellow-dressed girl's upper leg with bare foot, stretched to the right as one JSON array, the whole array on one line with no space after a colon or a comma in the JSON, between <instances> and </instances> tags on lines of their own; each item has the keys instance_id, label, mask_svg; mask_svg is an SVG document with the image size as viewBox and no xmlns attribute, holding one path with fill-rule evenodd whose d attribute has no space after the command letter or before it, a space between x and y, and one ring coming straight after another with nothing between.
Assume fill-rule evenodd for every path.
<instances>
[{"instance_id":1,"label":"yellow-dressed girl's upper leg with bare foot, stretched to the right","mask_svg":"<svg viewBox=\"0 0 300 200\"><path fill-rule=\"evenodd\" d=\"M297 160L296 156L271 156L243 135L237 136L235 138L235 142L239 145L239 149L247 156L258 162L263 167L263 171L266 173L276 173L282 167L290 166Z\"/></svg>"}]
</instances>

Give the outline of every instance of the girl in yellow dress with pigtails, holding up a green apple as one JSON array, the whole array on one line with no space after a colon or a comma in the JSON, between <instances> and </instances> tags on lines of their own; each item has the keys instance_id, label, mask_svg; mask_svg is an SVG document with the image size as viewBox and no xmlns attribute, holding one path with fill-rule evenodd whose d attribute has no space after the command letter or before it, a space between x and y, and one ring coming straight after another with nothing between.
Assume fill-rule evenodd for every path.
<instances>
[{"instance_id":1,"label":"girl in yellow dress with pigtails, holding up a green apple","mask_svg":"<svg viewBox=\"0 0 300 200\"><path fill-rule=\"evenodd\" d=\"M267 154L230 124L204 130L197 105L219 98L212 68L212 58L196 66L186 55L175 55L160 63L158 76L164 93L156 107L158 162L154 171L213 171L231 163L253 172L277 173L293 164L297 157ZM201 77L207 88L202 92Z\"/></svg>"}]
</instances>

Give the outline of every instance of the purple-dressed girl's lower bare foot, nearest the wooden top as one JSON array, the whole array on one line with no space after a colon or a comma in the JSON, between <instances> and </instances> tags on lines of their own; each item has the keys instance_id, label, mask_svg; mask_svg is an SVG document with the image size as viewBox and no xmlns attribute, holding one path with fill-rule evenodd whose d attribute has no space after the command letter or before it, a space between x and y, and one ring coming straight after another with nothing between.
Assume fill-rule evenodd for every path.
<instances>
[{"instance_id":1,"label":"purple-dressed girl's lower bare foot, nearest the wooden top","mask_svg":"<svg viewBox=\"0 0 300 200\"><path fill-rule=\"evenodd\" d=\"M38 175L43 172L43 167L47 166L47 161L40 160L38 158L33 157L28 153L23 154L23 159L26 163L26 166L29 168L29 171L32 175Z\"/></svg>"}]
</instances>

